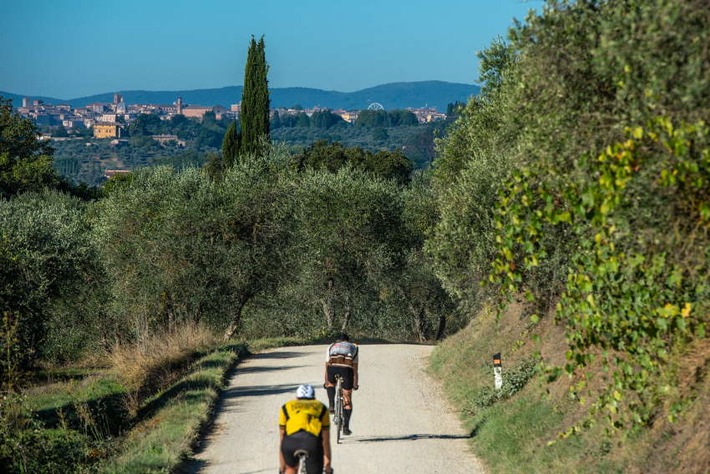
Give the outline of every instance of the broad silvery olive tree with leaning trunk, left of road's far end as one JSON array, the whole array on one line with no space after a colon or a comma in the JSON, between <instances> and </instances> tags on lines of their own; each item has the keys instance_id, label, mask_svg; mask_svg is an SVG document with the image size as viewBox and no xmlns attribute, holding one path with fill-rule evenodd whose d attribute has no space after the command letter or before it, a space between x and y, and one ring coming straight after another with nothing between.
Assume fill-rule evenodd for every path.
<instances>
[{"instance_id":1,"label":"broad silvery olive tree with leaning trunk, left of road's far end","mask_svg":"<svg viewBox=\"0 0 710 474\"><path fill-rule=\"evenodd\" d=\"M180 322L238 323L244 304L278 281L288 195L279 166L255 159L219 182L197 169L147 169L100 203L117 330L140 339Z\"/></svg>"}]
</instances>

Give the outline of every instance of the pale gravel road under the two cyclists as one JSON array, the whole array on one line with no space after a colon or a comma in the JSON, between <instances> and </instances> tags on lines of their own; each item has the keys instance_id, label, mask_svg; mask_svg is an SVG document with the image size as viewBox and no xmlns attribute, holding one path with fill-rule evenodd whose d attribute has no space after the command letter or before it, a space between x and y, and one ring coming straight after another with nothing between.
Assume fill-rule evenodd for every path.
<instances>
[{"instance_id":1,"label":"pale gravel road under the two cyclists","mask_svg":"<svg viewBox=\"0 0 710 474\"><path fill-rule=\"evenodd\" d=\"M336 444L333 467L346 473L482 473L468 435L424 372L431 346L362 345L353 434ZM325 346L288 347L240 363L215 426L187 466L200 474L275 474L278 410L300 383L322 388Z\"/></svg>"}]
</instances>

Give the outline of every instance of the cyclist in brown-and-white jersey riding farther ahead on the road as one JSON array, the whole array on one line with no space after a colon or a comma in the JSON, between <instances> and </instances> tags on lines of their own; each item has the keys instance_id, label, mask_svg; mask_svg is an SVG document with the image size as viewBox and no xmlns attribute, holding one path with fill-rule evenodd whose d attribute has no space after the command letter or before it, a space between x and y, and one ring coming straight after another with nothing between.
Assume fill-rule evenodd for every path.
<instances>
[{"instance_id":1,"label":"cyclist in brown-and-white jersey riding farther ahead on the road","mask_svg":"<svg viewBox=\"0 0 710 474\"><path fill-rule=\"evenodd\" d=\"M325 384L328 392L328 403L332 413L335 401L335 376L343 379L343 434L350 435L350 417L353 413L353 390L358 385L359 347L350 342L346 333L338 336L336 341L328 346L325 355Z\"/></svg>"}]
</instances>

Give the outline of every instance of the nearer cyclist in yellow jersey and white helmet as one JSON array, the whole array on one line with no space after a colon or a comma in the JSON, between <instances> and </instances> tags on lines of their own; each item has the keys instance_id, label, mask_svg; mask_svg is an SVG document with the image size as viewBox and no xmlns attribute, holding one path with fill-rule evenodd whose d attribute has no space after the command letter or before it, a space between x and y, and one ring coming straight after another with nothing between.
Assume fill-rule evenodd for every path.
<instances>
[{"instance_id":1,"label":"nearer cyclist in yellow jersey and white helmet","mask_svg":"<svg viewBox=\"0 0 710 474\"><path fill-rule=\"evenodd\" d=\"M300 385L296 399L290 400L279 410L280 472L296 474L298 458L296 450L308 451L308 472L321 473L323 468L331 474L330 466L330 414L328 408L315 399L311 385Z\"/></svg>"}]
</instances>

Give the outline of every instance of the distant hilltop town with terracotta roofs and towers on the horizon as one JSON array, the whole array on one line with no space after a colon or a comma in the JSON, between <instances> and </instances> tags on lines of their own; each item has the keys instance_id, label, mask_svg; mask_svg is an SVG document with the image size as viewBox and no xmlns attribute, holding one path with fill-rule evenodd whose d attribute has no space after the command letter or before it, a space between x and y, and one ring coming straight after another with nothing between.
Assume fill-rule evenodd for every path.
<instances>
[{"instance_id":1,"label":"distant hilltop town with terracotta roofs and towers on the horizon","mask_svg":"<svg viewBox=\"0 0 710 474\"><path fill-rule=\"evenodd\" d=\"M370 104L369 109L383 110L378 104ZM312 109L272 109L272 116L278 113L280 117L305 113L311 116L314 112L326 110L323 108ZM330 110L330 109L328 109ZM419 123L436 122L446 119L446 114L440 113L436 108L407 108L416 117ZM121 94L114 94L111 103L92 103L82 108L72 108L68 104L47 104L41 100L31 100L23 98L22 107L17 109L18 113L26 118L32 119L38 126L63 127L66 131L86 131L91 130L94 138L118 139L127 134L130 123L142 114L154 114L161 120L169 120L175 115L183 115L188 118L202 120L207 113L212 113L216 120L237 119L239 117L240 104L233 104L230 108L221 105L202 106L185 104L181 97L177 97L172 104L126 104ZM331 113L340 116L347 123L354 123L357 120L360 110L330 110ZM52 138L52 137L45 137ZM155 136L158 141L173 140L180 143L176 136Z\"/></svg>"}]
</instances>

